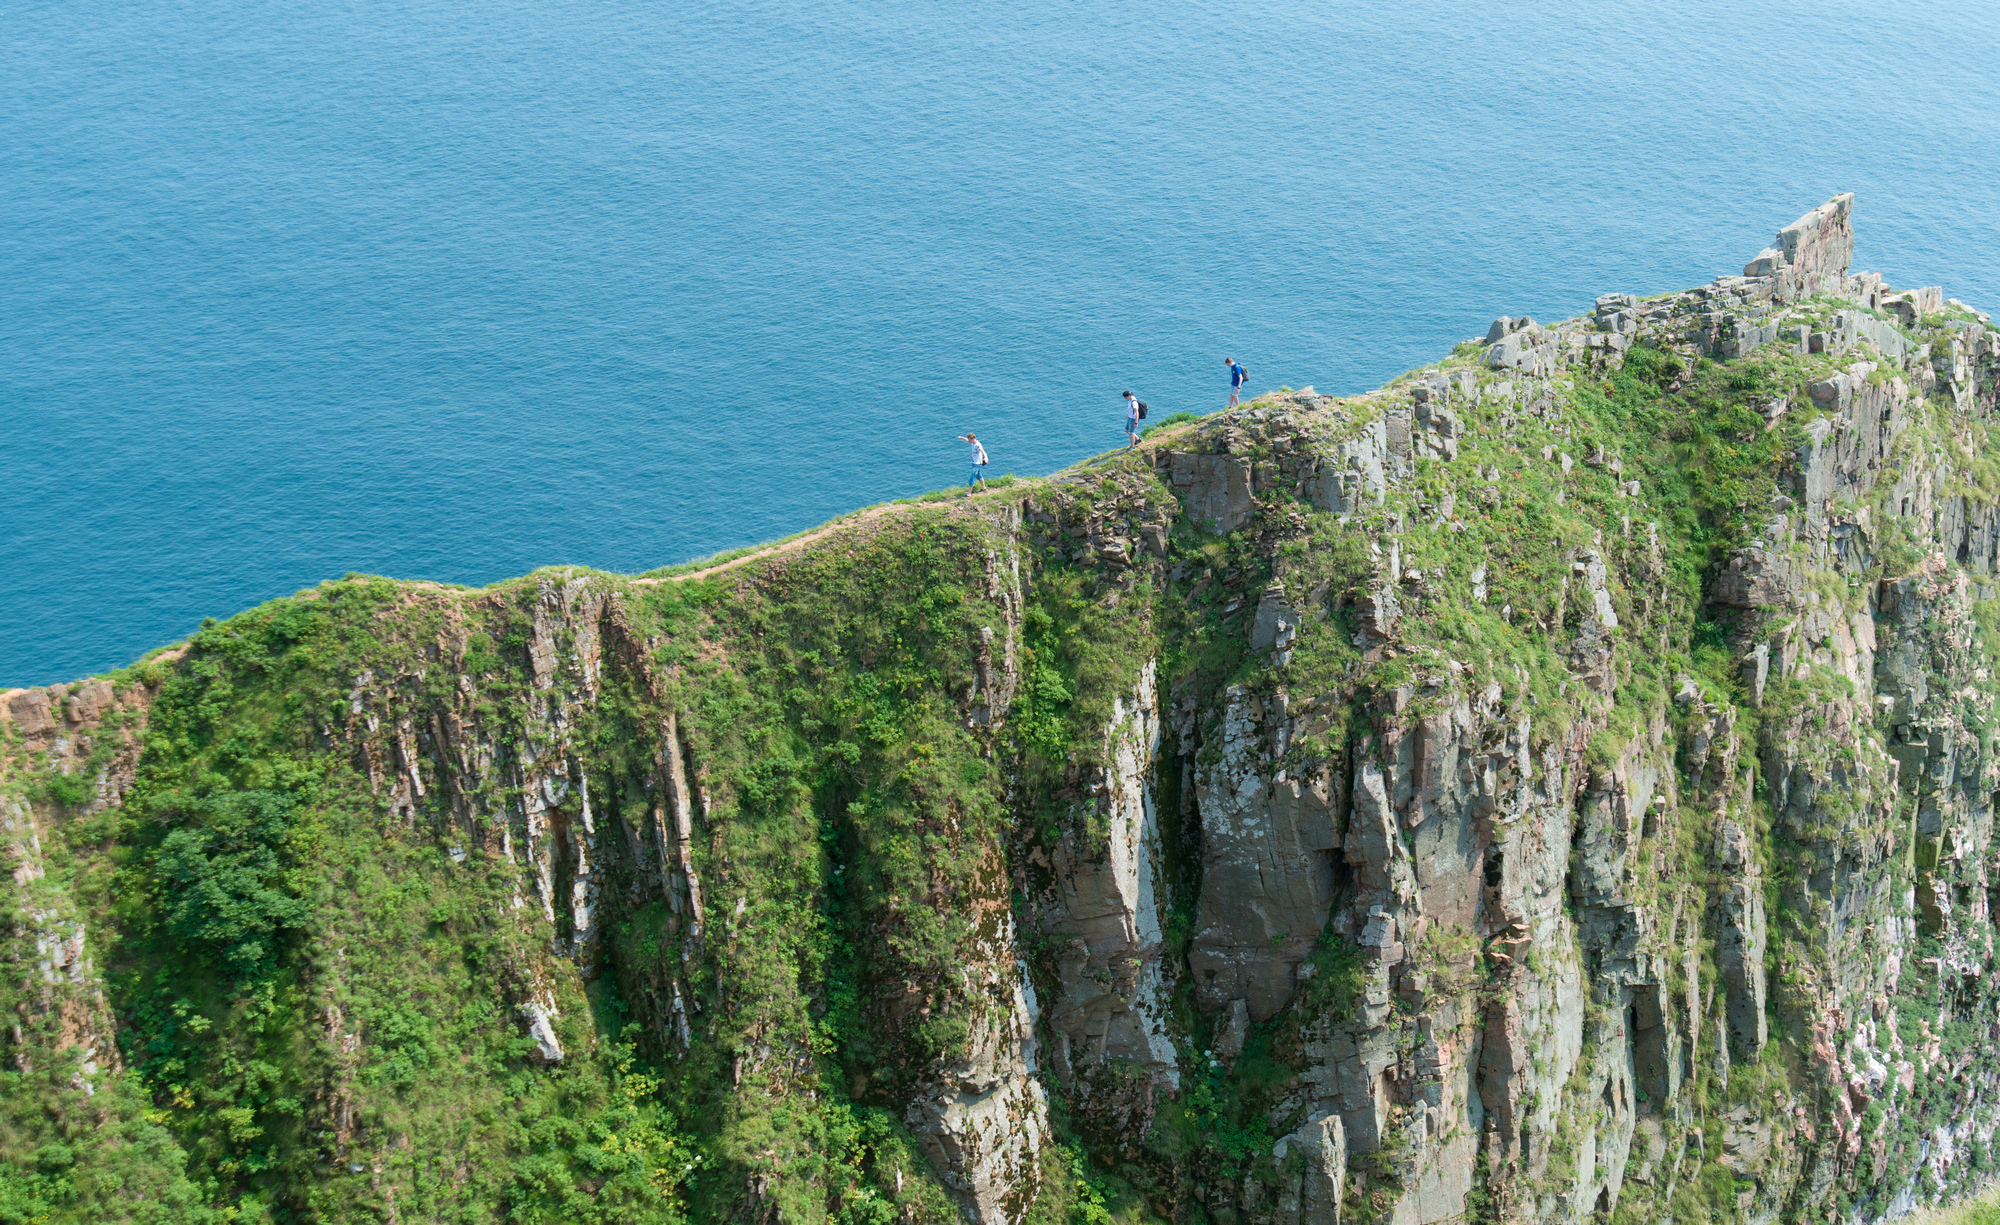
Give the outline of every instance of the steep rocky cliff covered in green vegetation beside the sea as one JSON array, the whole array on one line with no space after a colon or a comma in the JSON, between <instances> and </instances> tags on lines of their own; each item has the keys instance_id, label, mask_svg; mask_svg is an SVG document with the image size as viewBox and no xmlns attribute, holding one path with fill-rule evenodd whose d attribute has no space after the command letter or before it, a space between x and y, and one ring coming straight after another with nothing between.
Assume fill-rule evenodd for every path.
<instances>
[{"instance_id":1,"label":"steep rocky cliff covered in green vegetation beside the sea","mask_svg":"<svg viewBox=\"0 0 2000 1225\"><path fill-rule=\"evenodd\" d=\"M2000 332L1850 208L1048 480L8 693L0 1219L1964 1193Z\"/></svg>"}]
</instances>

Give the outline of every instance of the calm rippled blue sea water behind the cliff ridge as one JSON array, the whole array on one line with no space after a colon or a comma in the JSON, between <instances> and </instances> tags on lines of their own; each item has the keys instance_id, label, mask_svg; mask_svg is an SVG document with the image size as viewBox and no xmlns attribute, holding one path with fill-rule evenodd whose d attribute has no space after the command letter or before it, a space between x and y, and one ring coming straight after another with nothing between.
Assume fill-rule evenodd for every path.
<instances>
[{"instance_id":1,"label":"calm rippled blue sea water behind the cliff ridge","mask_svg":"<svg viewBox=\"0 0 2000 1225\"><path fill-rule=\"evenodd\" d=\"M2000 6L14 0L0 685L642 570L1600 292L2000 308Z\"/></svg>"}]
</instances>

